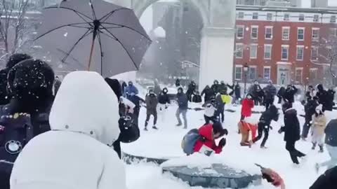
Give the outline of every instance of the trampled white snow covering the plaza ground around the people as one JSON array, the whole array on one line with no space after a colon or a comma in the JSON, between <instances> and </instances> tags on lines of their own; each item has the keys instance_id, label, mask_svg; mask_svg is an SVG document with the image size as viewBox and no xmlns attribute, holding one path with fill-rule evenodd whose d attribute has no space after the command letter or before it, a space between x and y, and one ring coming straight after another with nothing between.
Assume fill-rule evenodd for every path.
<instances>
[{"instance_id":1,"label":"trampled white snow covering the plaza ground around the people","mask_svg":"<svg viewBox=\"0 0 337 189\"><path fill-rule=\"evenodd\" d=\"M201 104L191 104L190 107L200 107ZM299 102L294 105L298 110L298 114L303 114L303 106ZM308 154L308 161L303 162L300 167L294 167L291 163L289 153L285 149L283 134L278 134L277 130L283 124L283 115L281 114L278 123L272 123L273 130L270 131L270 137L267 141L267 149L260 149L259 142L252 148L239 146L241 135L237 134L237 122L240 117L241 106L230 106L227 109L236 110L235 113L225 112L224 127L229 130L227 136L227 145L223 148L223 153L217 158L223 158L224 162L234 168L242 169L246 167L247 172L258 172L258 167L254 167L254 163L275 169L284 179L286 188L288 189L308 189L317 179L314 165L315 162L322 162L329 158L329 155L318 153L311 150L310 139L308 141L298 141L296 147L303 153ZM256 107L254 110L263 111L263 107ZM159 115L157 127L159 130L150 129L148 132L143 131L145 123L145 109L140 112L139 125L141 136L138 141L132 144L123 144L122 149L126 153L133 155L142 155L149 158L178 158L184 156L180 147L181 139L188 130L182 127L176 127L176 104L169 107L166 112L165 120L161 120ZM190 110L187 113L189 130L200 127L204 124L204 111ZM259 114L254 114L254 118L258 119ZM327 112L326 116L330 120L337 117L337 112ZM298 116L300 124L303 125L304 118ZM150 120L149 126L152 126ZM246 166L250 165L250 166ZM170 175L162 175L160 167L152 164L139 163L137 165L126 165L128 188L130 189L154 189L154 188L191 188L186 183L174 179ZM324 169L321 170L321 174ZM249 189L267 189L274 188L269 183L263 181L262 186L252 186Z\"/></svg>"}]
</instances>

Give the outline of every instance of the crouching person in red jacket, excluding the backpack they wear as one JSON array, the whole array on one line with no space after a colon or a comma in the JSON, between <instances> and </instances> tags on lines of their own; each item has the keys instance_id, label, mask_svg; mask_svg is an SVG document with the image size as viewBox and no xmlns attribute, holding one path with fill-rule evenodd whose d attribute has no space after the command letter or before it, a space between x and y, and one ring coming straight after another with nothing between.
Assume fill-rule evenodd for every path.
<instances>
[{"instance_id":1,"label":"crouching person in red jacket, excluding the backpack they wear","mask_svg":"<svg viewBox=\"0 0 337 189\"><path fill-rule=\"evenodd\" d=\"M199 128L199 139L194 145L194 153L199 152L202 146L211 148L215 153L221 153L223 151L223 146L226 144L226 139L223 138L219 141L219 144L216 145L216 139L227 135L228 131L223 129L221 123L207 124Z\"/></svg>"}]
</instances>

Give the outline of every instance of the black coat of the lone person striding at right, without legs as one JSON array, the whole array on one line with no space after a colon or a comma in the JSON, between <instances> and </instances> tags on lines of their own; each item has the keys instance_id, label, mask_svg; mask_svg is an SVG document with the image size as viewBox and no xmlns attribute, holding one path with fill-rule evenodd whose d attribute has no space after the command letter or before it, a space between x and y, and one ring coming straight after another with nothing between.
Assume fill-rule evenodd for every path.
<instances>
[{"instance_id":1,"label":"black coat of the lone person striding at right, without legs","mask_svg":"<svg viewBox=\"0 0 337 189\"><path fill-rule=\"evenodd\" d=\"M297 118L296 109L288 109L284 113L284 141L298 141L300 139L300 122Z\"/></svg>"}]
</instances>

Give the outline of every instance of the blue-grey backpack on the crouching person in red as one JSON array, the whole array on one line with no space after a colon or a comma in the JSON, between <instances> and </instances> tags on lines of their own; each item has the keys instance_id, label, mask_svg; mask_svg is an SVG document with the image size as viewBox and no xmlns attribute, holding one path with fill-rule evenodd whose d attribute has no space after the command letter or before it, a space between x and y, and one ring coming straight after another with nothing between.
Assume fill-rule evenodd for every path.
<instances>
[{"instance_id":1,"label":"blue-grey backpack on the crouching person in red","mask_svg":"<svg viewBox=\"0 0 337 189\"><path fill-rule=\"evenodd\" d=\"M187 134L185 134L185 136L183 137L183 141L181 143L181 148L183 148L184 153L186 153L187 155L191 155L192 153L194 153L194 146L200 139L201 136L199 134L199 130L193 129L187 132Z\"/></svg>"}]
</instances>

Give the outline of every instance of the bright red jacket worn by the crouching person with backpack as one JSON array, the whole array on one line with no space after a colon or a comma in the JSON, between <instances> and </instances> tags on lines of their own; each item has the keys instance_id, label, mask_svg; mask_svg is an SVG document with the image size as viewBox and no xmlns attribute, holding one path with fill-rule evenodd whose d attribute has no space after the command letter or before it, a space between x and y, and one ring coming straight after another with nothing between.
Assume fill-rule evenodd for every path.
<instances>
[{"instance_id":1,"label":"bright red jacket worn by the crouching person with backpack","mask_svg":"<svg viewBox=\"0 0 337 189\"><path fill-rule=\"evenodd\" d=\"M204 137L204 140L199 140L194 146L194 152L199 152L202 146L207 146L211 148L216 153L221 153L223 151L222 146L217 146L216 141L213 138L213 125L208 124L199 128L199 134Z\"/></svg>"}]
</instances>

